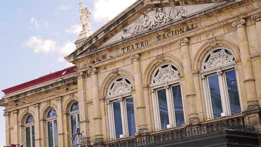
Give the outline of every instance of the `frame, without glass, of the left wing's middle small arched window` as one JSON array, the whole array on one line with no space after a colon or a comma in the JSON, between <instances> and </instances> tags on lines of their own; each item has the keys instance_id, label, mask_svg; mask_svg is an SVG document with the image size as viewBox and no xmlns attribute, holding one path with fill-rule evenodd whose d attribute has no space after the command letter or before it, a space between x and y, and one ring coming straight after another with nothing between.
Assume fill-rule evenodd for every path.
<instances>
[{"instance_id":1,"label":"frame, without glass, of the left wing's middle small arched window","mask_svg":"<svg viewBox=\"0 0 261 147\"><path fill-rule=\"evenodd\" d=\"M56 115L55 116L52 116L52 117L48 117L48 114L49 114L49 112L52 110L52 109L54 109L55 110L55 112L56 112ZM57 111L56 111L56 109L55 108L51 108L51 109L49 109L49 111L47 111L47 114L46 114L46 126L47 126L47 142L48 142L48 146L49 146L49 133L48 133L48 122L51 122L52 123L52 137L53 137L53 147L55 147L55 131L54 131L54 121L56 120L56 127L57 127L57 139L58 139L58 121L57 121ZM57 144L58 144L58 140L57 140Z\"/></svg>"}]
</instances>

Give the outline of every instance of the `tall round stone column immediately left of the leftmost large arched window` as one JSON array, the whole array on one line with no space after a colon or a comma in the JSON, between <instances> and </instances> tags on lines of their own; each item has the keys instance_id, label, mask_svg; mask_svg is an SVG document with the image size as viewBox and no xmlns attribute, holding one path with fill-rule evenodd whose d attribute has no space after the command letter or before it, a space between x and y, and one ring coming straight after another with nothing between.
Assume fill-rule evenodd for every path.
<instances>
[{"instance_id":1,"label":"tall round stone column immediately left of the leftmost large arched window","mask_svg":"<svg viewBox=\"0 0 261 147\"><path fill-rule=\"evenodd\" d=\"M94 120L94 138L95 143L99 144L104 141L102 135L102 118L101 118L101 107L99 101L99 82L98 82L98 70L92 68L88 70L88 74L91 74L91 85L92 85L92 103L93 103L93 120Z\"/></svg>"}]
</instances>

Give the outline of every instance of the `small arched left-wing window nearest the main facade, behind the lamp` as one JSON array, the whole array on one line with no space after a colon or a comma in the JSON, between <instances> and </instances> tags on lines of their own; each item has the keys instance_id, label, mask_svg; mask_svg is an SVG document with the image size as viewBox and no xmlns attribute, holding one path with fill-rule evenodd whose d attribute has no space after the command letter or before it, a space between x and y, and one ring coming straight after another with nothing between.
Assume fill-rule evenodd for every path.
<instances>
[{"instance_id":1,"label":"small arched left-wing window nearest the main facade, behind the lamp","mask_svg":"<svg viewBox=\"0 0 261 147\"><path fill-rule=\"evenodd\" d=\"M70 107L70 123L71 123L71 137L76 133L77 128L80 128L80 114L79 114L79 103L74 102ZM73 140L73 144L77 147L78 140Z\"/></svg>"}]
</instances>

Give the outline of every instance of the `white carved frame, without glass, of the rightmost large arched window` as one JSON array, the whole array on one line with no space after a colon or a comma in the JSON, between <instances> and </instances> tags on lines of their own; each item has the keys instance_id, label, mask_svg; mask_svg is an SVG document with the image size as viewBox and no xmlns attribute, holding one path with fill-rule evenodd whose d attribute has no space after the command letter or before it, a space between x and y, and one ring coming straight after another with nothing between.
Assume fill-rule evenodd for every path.
<instances>
[{"instance_id":1,"label":"white carved frame, without glass, of the rightmost large arched window","mask_svg":"<svg viewBox=\"0 0 261 147\"><path fill-rule=\"evenodd\" d=\"M226 79L225 79L225 72L228 72L228 71L235 70L236 82L237 82L237 88L238 88L238 94L239 94L239 100L240 100L240 108L242 111L242 101L241 101L241 94L240 94L240 88L239 88L239 82L238 82L238 73L236 70L236 62L235 62L234 57L233 57L233 60L231 60L232 59L231 56L233 56L233 55L230 55L230 56L223 55L223 57L226 57L223 59L227 60L226 62L223 62L224 63L223 65L217 64L215 66L214 65L207 66L207 67L211 67L211 68L206 69L206 66L205 66L206 63L209 65L207 57L214 55L215 53L213 54L213 51L216 51L218 49L229 51L229 49L226 49L226 48L213 49L208 55L206 55L206 58L203 60L203 61L205 61L205 63L202 64L202 67L201 67L202 70L200 71L201 81L202 81L202 86L203 86L203 94L204 94L205 105L206 105L206 114L207 114L208 120L214 119L213 108L212 108L212 103L211 103L211 95L210 95L210 89L209 89L209 81L208 81L208 77L214 76L214 75L218 76L219 90L220 90L222 110L223 110L223 113L221 113L221 116L231 115L231 110L230 110L230 106L229 106L229 96L228 96L228 92L227 92L227 83L226 83ZM230 52L230 53L232 53L232 52ZM216 54L215 58L212 58L212 60L217 59L218 61L220 61L219 57L220 56L218 56ZM222 61L220 61L220 62L222 62Z\"/></svg>"}]
</instances>

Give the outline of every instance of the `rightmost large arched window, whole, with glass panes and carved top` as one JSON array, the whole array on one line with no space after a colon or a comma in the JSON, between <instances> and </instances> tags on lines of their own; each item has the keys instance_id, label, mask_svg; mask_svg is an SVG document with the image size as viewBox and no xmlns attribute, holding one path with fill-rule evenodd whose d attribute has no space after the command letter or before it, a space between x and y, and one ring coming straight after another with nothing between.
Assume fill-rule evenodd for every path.
<instances>
[{"instance_id":1,"label":"rightmost large arched window, whole, with glass panes and carved top","mask_svg":"<svg viewBox=\"0 0 261 147\"><path fill-rule=\"evenodd\" d=\"M202 85L208 119L241 113L235 58L227 49L216 49L202 65Z\"/></svg>"}]
</instances>

